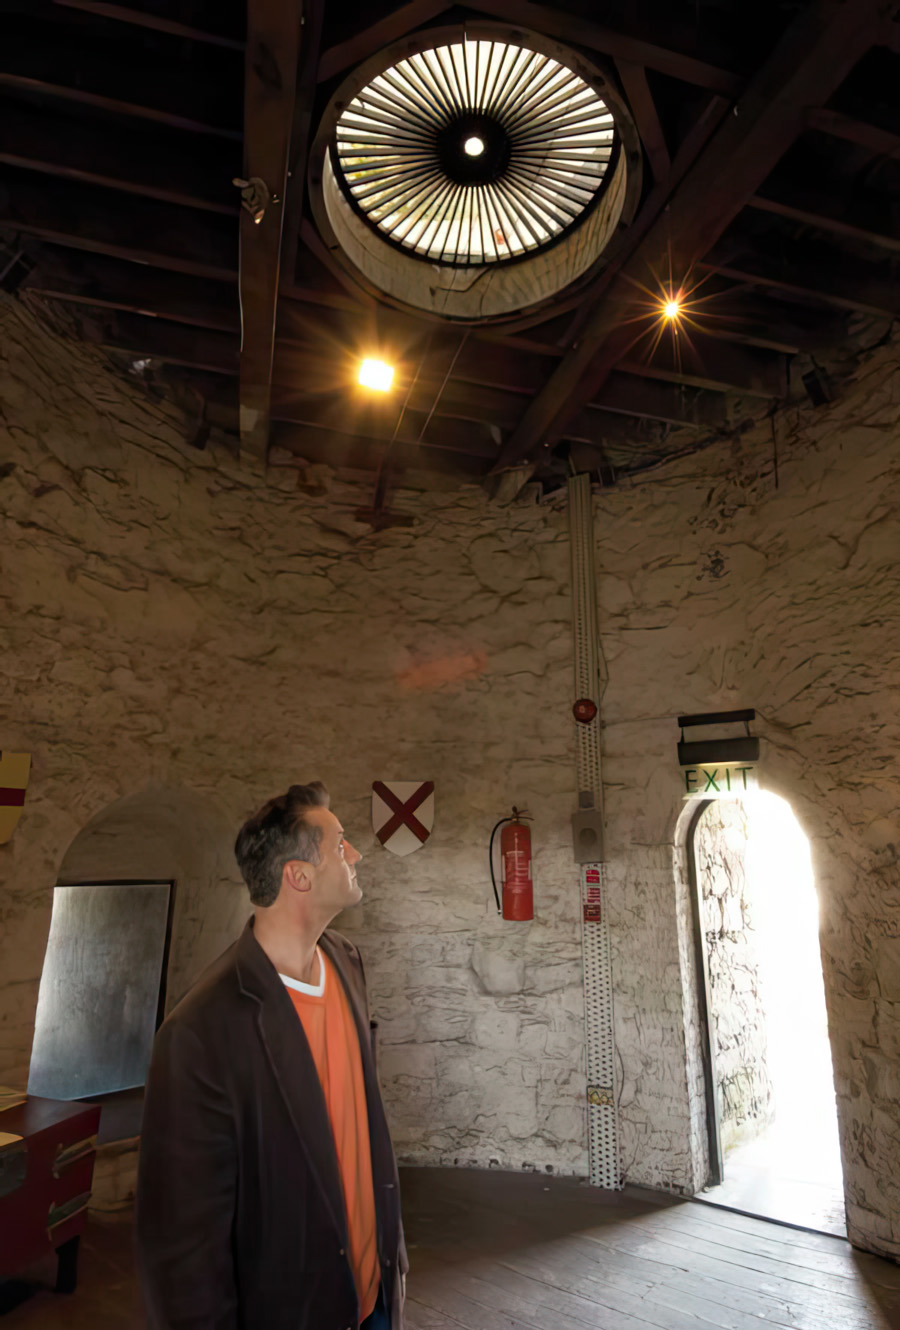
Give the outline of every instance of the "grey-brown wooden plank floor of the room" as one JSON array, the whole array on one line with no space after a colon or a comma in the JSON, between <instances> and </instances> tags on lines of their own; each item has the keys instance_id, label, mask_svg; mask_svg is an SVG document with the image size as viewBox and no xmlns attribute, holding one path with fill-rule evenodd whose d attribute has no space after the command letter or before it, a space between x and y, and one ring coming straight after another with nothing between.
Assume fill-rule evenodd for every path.
<instances>
[{"instance_id":1,"label":"grey-brown wooden plank floor of the room","mask_svg":"<svg viewBox=\"0 0 900 1330\"><path fill-rule=\"evenodd\" d=\"M407 1330L900 1330L900 1266L840 1238L533 1173L404 1169L401 1186ZM0 1318L142 1325L128 1217L92 1221L70 1298Z\"/></svg>"}]
</instances>

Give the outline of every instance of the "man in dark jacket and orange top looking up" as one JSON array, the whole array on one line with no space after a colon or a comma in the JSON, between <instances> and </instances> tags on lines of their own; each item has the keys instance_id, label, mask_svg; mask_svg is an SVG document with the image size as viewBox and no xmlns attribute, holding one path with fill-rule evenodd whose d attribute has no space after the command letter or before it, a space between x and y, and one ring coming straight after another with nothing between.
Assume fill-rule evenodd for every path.
<instances>
[{"instance_id":1,"label":"man in dark jacket and orange top looking up","mask_svg":"<svg viewBox=\"0 0 900 1330\"><path fill-rule=\"evenodd\" d=\"M400 1330L400 1190L363 963L328 928L360 855L323 785L242 829L255 914L160 1029L137 1194L150 1330Z\"/></svg>"}]
</instances>

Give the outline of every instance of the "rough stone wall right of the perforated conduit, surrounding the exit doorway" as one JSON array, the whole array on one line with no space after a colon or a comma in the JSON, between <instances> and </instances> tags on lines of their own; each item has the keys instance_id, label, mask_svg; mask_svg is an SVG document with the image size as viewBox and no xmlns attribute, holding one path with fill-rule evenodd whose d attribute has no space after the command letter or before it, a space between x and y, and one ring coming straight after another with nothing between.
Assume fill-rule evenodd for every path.
<instances>
[{"instance_id":1,"label":"rough stone wall right of the perforated conduit, surrounding the exit doorway","mask_svg":"<svg viewBox=\"0 0 900 1330\"><path fill-rule=\"evenodd\" d=\"M900 363L596 500L621 1134L701 1185L675 717L755 706L763 785L812 843L849 1233L900 1256ZM681 964L679 964L681 962ZM690 992L689 992L690 1001Z\"/></svg>"}]
</instances>

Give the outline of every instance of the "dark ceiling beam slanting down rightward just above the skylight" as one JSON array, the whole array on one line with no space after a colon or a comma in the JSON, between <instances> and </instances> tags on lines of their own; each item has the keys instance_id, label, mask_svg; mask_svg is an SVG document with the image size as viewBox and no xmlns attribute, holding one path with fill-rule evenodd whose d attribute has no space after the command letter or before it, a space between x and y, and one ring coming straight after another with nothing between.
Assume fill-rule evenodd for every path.
<instances>
[{"instance_id":1,"label":"dark ceiling beam slanting down rightward just above the skylight","mask_svg":"<svg viewBox=\"0 0 900 1330\"><path fill-rule=\"evenodd\" d=\"M565 9L532 4L530 0L472 0L472 4L483 13L504 19L516 27L533 28L536 32L570 41L576 47L598 51L614 60L630 60L646 69L655 69L669 74L670 78L681 78L683 82L695 84L725 97L736 96L744 85L744 78L731 70L719 69L695 56L618 32L616 28L606 28ZM654 28L657 27L665 25L654 24Z\"/></svg>"}]
</instances>

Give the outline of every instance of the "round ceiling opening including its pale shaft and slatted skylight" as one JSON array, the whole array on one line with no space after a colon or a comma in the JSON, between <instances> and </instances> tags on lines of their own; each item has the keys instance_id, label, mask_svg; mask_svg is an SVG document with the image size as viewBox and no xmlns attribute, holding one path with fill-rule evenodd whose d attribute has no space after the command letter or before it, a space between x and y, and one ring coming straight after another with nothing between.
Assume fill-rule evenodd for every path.
<instances>
[{"instance_id":1,"label":"round ceiling opening including its pale shaft and slatted skylight","mask_svg":"<svg viewBox=\"0 0 900 1330\"><path fill-rule=\"evenodd\" d=\"M334 90L310 205L370 297L437 319L540 319L600 273L641 197L641 141L614 80L522 28L405 37Z\"/></svg>"}]
</instances>

